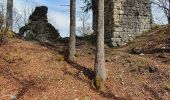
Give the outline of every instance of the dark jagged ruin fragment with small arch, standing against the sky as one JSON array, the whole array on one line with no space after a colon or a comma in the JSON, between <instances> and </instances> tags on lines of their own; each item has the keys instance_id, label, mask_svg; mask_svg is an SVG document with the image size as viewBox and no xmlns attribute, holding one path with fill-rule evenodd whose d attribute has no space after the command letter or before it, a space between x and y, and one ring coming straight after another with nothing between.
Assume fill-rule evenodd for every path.
<instances>
[{"instance_id":1,"label":"dark jagged ruin fragment with small arch, standing against the sky","mask_svg":"<svg viewBox=\"0 0 170 100\"><path fill-rule=\"evenodd\" d=\"M48 22L47 13L46 6L36 7L29 17L28 24L20 28L19 35L26 35L24 38L40 42L53 42L60 38L58 30Z\"/></svg>"}]
</instances>

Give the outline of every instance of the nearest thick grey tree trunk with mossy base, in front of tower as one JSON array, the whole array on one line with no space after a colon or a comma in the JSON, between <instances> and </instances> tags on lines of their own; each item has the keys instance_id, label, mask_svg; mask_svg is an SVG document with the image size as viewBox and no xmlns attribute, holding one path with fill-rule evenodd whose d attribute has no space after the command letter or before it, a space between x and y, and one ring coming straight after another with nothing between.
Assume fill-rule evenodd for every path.
<instances>
[{"instance_id":1,"label":"nearest thick grey tree trunk with mossy base, in front of tower","mask_svg":"<svg viewBox=\"0 0 170 100\"><path fill-rule=\"evenodd\" d=\"M97 89L103 87L106 80L105 51L104 51L104 0L98 1L97 46L95 59L94 85Z\"/></svg>"}]
</instances>

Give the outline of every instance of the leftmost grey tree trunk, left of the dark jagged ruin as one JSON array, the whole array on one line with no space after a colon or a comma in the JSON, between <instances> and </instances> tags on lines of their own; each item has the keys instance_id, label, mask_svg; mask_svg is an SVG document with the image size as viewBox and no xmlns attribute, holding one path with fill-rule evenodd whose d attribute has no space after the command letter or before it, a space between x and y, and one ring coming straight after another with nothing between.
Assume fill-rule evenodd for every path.
<instances>
[{"instance_id":1,"label":"leftmost grey tree trunk, left of the dark jagged ruin","mask_svg":"<svg viewBox=\"0 0 170 100\"><path fill-rule=\"evenodd\" d=\"M6 28L13 30L13 0L7 0Z\"/></svg>"}]
</instances>

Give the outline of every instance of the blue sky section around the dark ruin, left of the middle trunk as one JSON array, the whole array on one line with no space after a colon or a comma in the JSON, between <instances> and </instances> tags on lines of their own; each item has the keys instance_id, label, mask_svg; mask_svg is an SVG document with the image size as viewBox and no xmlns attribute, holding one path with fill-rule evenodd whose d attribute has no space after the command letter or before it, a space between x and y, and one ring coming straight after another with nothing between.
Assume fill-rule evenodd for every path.
<instances>
[{"instance_id":1,"label":"blue sky section around the dark ruin, left of the middle trunk","mask_svg":"<svg viewBox=\"0 0 170 100\"><path fill-rule=\"evenodd\" d=\"M35 6L48 6L48 19L57 29L61 36L69 35L69 0L14 0L14 7L18 12L23 12L23 8L34 8ZM26 7L27 6L27 7Z\"/></svg>"}]
</instances>

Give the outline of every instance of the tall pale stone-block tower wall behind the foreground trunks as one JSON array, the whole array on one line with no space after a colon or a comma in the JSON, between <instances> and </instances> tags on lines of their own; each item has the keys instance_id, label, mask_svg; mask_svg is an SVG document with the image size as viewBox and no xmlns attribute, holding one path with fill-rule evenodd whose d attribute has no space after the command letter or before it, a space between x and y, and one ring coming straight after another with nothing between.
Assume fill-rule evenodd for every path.
<instances>
[{"instance_id":1,"label":"tall pale stone-block tower wall behind the foreground trunks","mask_svg":"<svg viewBox=\"0 0 170 100\"><path fill-rule=\"evenodd\" d=\"M105 0L105 40L111 46L126 45L150 27L150 0Z\"/></svg>"}]
</instances>

